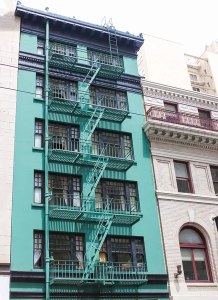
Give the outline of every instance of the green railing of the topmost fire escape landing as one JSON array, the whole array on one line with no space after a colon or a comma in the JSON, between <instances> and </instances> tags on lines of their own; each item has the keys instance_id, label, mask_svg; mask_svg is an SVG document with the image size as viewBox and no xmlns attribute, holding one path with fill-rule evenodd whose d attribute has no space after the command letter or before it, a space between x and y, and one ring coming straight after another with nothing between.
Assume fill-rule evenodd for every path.
<instances>
[{"instance_id":1,"label":"green railing of the topmost fire escape landing","mask_svg":"<svg viewBox=\"0 0 218 300\"><path fill-rule=\"evenodd\" d=\"M52 54L60 54L70 57L76 57L79 60L85 60L92 64L95 62L97 58L97 63L99 64L105 64L105 65L112 65L115 67L121 67L123 68L123 62L122 58L117 57L115 55L109 55L104 54L101 52L95 52L92 50L83 50L83 49L77 49L75 47L60 44L60 43L52 43L49 47L49 57L52 56Z\"/></svg>"}]
</instances>

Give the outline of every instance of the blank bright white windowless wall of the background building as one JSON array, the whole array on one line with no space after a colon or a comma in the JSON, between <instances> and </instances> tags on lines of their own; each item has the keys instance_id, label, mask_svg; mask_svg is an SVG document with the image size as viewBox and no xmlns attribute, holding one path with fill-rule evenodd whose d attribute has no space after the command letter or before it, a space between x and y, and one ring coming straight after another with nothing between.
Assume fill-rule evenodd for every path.
<instances>
[{"instance_id":1,"label":"blank bright white windowless wall of the background building","mask_svg":"<svg viewBox=\"0 0 218 300\"><path fill-rule=\"evenodd\" d=\"M184 57L183 45L143 34L144 43L138 51L142 53L145 78L170 86L191 89L190 79Z\"/></svg>"}]
</instances>

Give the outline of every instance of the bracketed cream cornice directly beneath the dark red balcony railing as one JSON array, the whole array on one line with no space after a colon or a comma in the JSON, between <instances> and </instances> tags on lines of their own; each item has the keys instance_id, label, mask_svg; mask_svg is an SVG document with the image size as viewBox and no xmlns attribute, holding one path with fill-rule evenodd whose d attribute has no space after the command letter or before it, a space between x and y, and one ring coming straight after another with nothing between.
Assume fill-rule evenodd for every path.
<instances>
[{"instance_id":1,"label":"bracketed cream cornice directly beneath the dark red balcony railing","mask_svg":"<svg viewBox=\"0 0 218 300\"><path fill-rule=\"evenodd\" d=\"M218 132L216 131L150 119L142 128L149 140L218 150Z\"/></svg>"}]
</instances>

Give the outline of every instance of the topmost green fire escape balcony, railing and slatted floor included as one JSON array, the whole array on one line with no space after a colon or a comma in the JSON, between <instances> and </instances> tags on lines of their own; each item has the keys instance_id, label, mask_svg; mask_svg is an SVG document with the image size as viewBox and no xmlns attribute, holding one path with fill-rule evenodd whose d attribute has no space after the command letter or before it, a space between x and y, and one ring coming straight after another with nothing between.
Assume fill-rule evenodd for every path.
<instances>
[{"instance_id":1,"label":"topmost green fire escape balcony, railing and slatted floor included","mask_svg":"<svg viewBox=\"0 0 218 300\"><path fill-rule=\"evenodd\" d=\"M94 68L100 67L97 75L111 79L118 79L124 70L120 57L77 49L60 43L51 44L48 62L49 66L85 73L95 63Z\"/></svg>"}]
</instances>

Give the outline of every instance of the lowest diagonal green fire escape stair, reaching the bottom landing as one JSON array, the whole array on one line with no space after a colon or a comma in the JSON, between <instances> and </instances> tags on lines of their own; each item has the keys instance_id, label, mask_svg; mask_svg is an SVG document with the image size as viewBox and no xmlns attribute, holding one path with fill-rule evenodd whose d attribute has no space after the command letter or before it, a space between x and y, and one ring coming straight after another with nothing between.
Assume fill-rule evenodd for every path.
<instances>
[{"instance_id":1,"label":"lowest diagonal green fire escape stair, reaching the bottom landing","mask_svg":"<svg viewBox=\"0 0 218 300\"><path fill-rule=\"evenodd\" d=\"M89 247L84 255L84 260L87 261L84 270L84 279L88 279L90 272L94 271L95 262L99 259L99 251L105 240L105 237L109 231L109 228L113 221L113 215L108 215L109 213L109 202L105 203L105 208L102 212L101 218L97 224L96 230L93 232L93 237L89 244ZM99 236L100 234L100 236ZM99 238L98 238L99 236Z\"/></svg>"}]
</instances>

